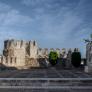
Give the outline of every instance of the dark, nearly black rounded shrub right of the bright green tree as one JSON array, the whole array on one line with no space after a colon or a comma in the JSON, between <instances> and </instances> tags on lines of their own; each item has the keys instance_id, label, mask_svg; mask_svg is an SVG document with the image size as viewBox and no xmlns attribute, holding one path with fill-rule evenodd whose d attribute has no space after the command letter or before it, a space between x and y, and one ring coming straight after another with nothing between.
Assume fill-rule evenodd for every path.
<instances>
[{"instance_id":1,"label":"dark, nearly black rounded shrub right of the bright green tree","mask_svg":"<svg viewBox=\"0 0 92 92\"><path fill-rule=\"evenodd\" d=\"M79 67L81 64L81 53L80 52L73 52L71 57L71 63L74 67Z\"/></svg>"}]
</instances>

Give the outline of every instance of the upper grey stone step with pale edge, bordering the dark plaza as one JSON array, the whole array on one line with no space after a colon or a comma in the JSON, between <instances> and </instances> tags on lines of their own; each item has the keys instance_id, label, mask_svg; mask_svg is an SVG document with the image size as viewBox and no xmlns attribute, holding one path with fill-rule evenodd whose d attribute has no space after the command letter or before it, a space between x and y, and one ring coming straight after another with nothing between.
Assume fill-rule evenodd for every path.
<instances>
[{"instance_id":1,"label":"upper grey stone step with pale edge, bordering the dark plaza","mask_svg":"<svg viewBox=\"0 0 92 92\"><path fill-rule=\"evenodd\" d=\"M92 78L0 78L0 88L2 87L92 88Z\"/></svg>"}]
</instances>

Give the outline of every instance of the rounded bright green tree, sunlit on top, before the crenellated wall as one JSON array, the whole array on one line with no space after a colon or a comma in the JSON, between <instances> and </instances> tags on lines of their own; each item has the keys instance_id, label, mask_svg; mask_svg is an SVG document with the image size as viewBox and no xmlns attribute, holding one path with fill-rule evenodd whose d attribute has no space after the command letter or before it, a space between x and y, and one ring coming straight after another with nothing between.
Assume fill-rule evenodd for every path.
<instances>
[{"instance_id":1,"label":"rounded bright green tree, sunlit on top, before the crenellated wall","mask_svg":"<svg viewBox=\"0 0 92 92\"><path fill-rule=\"evenodd\" d=\"M55 51L51 51L49 54L49 62L52 65L56 65L57 64L57 60L58 60L58 54Z\"/></svg>"}]
</instances>

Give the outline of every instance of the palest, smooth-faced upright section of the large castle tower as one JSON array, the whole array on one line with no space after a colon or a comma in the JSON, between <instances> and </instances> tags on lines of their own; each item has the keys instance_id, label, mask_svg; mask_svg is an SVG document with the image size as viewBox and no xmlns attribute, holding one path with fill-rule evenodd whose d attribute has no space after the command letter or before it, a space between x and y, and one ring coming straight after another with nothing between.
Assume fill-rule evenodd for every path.
<instances>
[{"instance_id":1,"label":"palest, smooth-faced upright section of the large castle tower","mask_svg":"<svg viewBox=\"0 0 92 92\"><path fill-rule=\"evenodd\" d=\"M26 42L21 40L21 41L16 41L16 45L14 48L14 57L16 60L16 65L17 66L25 66L25 55L26 55Z\"/></svg>"}]
</instances>

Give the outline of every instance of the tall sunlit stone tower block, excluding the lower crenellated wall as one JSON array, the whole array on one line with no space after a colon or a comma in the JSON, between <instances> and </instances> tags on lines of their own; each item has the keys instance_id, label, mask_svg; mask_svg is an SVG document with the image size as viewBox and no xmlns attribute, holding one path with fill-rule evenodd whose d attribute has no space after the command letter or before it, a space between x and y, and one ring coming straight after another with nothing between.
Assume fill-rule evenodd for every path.
<instances>
[{"instance_id":1,"label":"tall sunlit stone tower block, excluding the lower crenellated wall","mask_svg":"<svg viewBox=\"0 0 92 92\"><path fill-rule=\"evenodd\" d=\"M12 67L38 66L39 64L35 60L37 51L38 46L35 41L6 40L4 42L2 63Z\"/></svg>"}]
</instances>

